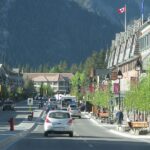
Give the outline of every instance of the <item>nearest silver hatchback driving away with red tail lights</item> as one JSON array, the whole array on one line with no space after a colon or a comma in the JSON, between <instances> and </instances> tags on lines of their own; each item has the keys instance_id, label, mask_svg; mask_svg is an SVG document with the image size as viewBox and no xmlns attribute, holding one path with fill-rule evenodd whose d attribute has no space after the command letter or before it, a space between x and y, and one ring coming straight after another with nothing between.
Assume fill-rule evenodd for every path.
<instances>
[{"instance_id":1,"label":"nearest silver hatchback driving away with red tail lights","mask_svg":"<svg viewBox=\"0 0 150 150\"><path fill-rule=\"evenodd\" d=\"M44 136L50 133L69 134L73 137L73 119L69 112L52 110L46 115L44 122Z\"/></svg>"}]
</instances>

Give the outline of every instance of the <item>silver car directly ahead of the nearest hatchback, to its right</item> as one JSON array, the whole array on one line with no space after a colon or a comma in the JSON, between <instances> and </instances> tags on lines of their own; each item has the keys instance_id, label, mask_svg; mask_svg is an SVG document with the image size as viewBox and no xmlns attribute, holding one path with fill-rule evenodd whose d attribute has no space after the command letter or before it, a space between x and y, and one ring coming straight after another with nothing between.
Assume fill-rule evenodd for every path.
<instances>
[{"instance_id":1,"label":"silver car directly ahead of the nearest hatchback, to its right","mask_svg":"<svg viewBox=\"0 0 150 150\"><path fill-rule=\"evenodd\" d=\"M68 106L67 110L70 112L72 117L79 117L81 118L81 111L75 104L71 104Z\"/></svg>"}]
</instances>

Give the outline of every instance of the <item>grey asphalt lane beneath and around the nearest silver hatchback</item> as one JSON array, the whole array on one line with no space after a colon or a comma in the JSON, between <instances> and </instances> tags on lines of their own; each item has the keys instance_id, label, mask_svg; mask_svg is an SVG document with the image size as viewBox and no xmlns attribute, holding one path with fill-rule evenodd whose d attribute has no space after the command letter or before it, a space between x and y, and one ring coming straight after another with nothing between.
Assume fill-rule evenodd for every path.
<instances>
[{"instance_id":1,"label":"grey asphalt lane beneath and around the nearest silver hatchback","mask_svg":"<svg viewBox=\"0 0 150 150\"><path fill-rule=\"evenodd\" d=\"M123 138L97 126L90 119L74 120L74 137L52 134L43 136L43 121L25 138L7 150L149 150L150 144Z\"/></svg>"}]
</instances>

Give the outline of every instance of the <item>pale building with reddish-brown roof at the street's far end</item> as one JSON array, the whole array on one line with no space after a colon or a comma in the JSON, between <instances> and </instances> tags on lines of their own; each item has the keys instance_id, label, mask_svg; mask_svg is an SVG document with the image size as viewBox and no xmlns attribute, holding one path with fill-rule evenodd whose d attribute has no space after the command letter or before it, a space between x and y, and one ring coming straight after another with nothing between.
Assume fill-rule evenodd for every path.
<instances>
[{"instance_id":1,"label":"pale building with reddish-brown roof at the street's far end","mask_svg":"<svg viewBox=\"0 0 150 150\"><path fill-rule=\"evenodd\" d=\"M41 85L50 86L55 93L67 94L70 92L72 73L24 73L24 80L29 79L34 83L36 91L40 92Z\"/></svg>"}]
</instances>

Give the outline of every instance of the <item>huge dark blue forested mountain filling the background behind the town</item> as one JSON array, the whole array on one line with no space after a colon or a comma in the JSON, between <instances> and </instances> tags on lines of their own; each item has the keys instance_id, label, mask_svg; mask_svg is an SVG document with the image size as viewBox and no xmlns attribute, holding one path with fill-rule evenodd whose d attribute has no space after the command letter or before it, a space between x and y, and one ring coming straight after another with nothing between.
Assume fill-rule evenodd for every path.
<instances>
[{"instance_id":1,"label":"huge dark blue forested mountain filling the background behind the town","mask_svg":"<svg viewBox=\"0 0 150 150\"><path fill-rule=\"evenodd\" d=\"M126 3L128 22L139 18L140 0ZM12 66L80 63L123 31L122 6L123 0L1 0L0 59Z\"/></svg>"}]
</instances>

